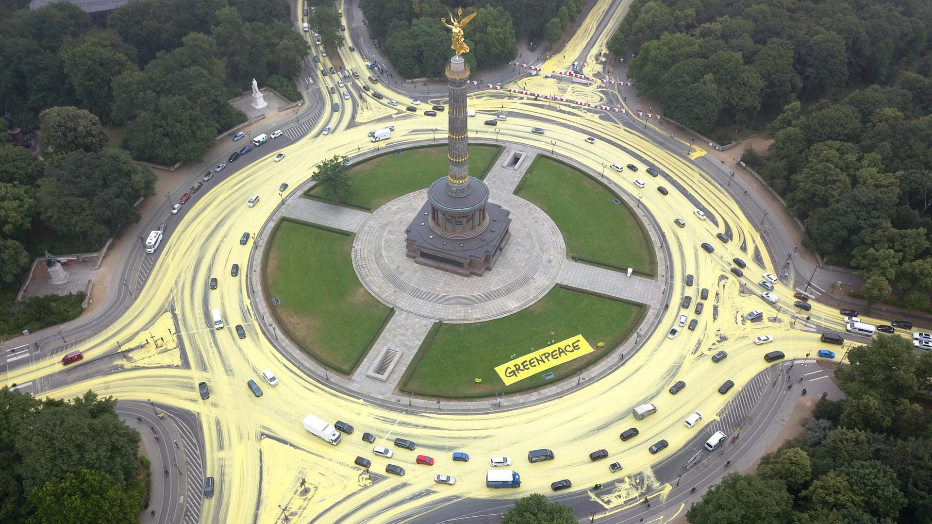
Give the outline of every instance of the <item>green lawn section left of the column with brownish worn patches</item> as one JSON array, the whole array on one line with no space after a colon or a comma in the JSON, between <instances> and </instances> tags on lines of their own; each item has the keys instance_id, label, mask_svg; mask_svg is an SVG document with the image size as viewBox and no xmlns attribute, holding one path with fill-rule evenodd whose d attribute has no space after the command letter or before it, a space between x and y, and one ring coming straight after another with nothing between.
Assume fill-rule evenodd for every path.
<instances>
[{"instance_id":1,"label":"green lawn section left of the column with brownish worn patches","mask_svg":"<svg viewBox=\"0 0 932 524\"><path fill-rule=\"evenodd\" d=\"M351 236L283 221L268 242L267 300L281 327L305 352L349 373L390 309L369 295L352 269Z\"/></svg>"}]
</instances>

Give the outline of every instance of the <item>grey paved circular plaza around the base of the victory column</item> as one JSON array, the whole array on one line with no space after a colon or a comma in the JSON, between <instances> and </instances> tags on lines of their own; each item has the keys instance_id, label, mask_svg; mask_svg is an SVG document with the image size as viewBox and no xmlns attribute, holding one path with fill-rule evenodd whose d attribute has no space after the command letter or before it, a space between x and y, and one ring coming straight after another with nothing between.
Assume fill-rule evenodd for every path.
<instances>
[{"instance_id":1,"label":"grey paved circular plaza around the base of the victory column","mask_svg":"<svg viewBox=\"0 0 932 524\"><path fill-rule=\"evenodd\" d=\"M512 238L495 268L461 277L426 268L404 255L404 229L427 200L427 189L391 200L359 229L352 262L363 287L382 303L450 323L503 317L527 308L556 284L567 258L563 236L540 208L496 192L491 202L511 212Z\"/></svg>"}]
</instances>

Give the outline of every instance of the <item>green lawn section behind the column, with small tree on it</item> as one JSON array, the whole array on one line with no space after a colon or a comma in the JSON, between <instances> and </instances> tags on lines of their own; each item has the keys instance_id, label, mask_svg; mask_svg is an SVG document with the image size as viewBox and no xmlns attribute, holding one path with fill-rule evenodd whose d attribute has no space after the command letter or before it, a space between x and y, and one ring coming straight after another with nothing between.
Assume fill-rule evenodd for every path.
<instances>
[{"instance_id":1,"label":"green lawn section behind the column, with small tree on it","mask_svg":"<svg viewBox=\"0 0 932 524\"><path fill-rule=\"evenodd\" d=\"M469 146L469 174L485 178L489 162L499 155L496 145ZM426 189L434 180L446 176L448 160L446 145L407 149L404 155L382 155L364 161L349 170L352 194L341 197L340 203L363 209L377 209L402 195ZM323 187L315 186L308 194L325 198Z\"/></svg>"}]
</instances>

